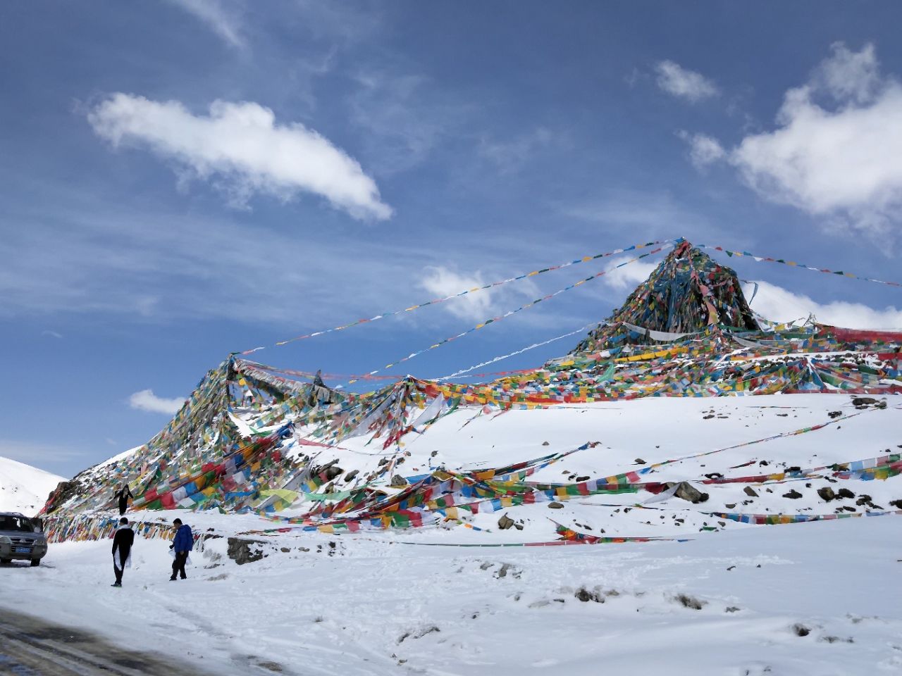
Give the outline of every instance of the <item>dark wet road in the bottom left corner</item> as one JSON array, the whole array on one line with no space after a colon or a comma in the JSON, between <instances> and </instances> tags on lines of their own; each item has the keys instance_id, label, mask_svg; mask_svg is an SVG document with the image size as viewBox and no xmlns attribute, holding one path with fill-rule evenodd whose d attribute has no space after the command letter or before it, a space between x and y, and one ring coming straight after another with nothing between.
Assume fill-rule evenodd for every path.
<instances>
[{"instance_id":1,"label":"dark wet road in the bottom left corner","mask_svg":"<svg viewBox=\"0 0 902 676\"><path fill-rule=\"evenodd\" d=\"M201 676L148 653L123 650L95 635L0 610L0 674L15 676Z\"/></svg>"}]
</instances>

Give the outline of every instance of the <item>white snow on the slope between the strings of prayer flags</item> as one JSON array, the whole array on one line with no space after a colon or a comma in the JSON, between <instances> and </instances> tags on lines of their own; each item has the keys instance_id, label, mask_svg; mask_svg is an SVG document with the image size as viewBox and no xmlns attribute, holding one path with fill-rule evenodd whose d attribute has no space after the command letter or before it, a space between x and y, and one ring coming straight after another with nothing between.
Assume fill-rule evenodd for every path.
<instances>
[{"instance_id":1,"label":"white snow on the slope between the strings of prayer flags","mask_svg":"<svg viewBox=\"0 0 902 676\"><path fill-rule=\"evenodd\" d=\"M695 481L695 488L710 498L700 505L679 498L654 500L649 502L649 509L627 511L622 507L654 497L640 492L572 498L562 500L564 507L554 510L549 510L546 503L526 505L509 511L511 517L523 519L522 531L497 532L500 515L480 513L471 523L496 532L488 535L458 529L456 539L553 540L555 525L550 518L587 534L684 535L698 533L700 528L749 527L734 521L719 522L705 512L832 515L894 509L889 502L902 498L902 479L838 483L806 478L771 482L763 487L750 483L700 483L717 474L735 479L902 452L902 401L889 397L887 408L859 410L851 405L851 400L849 396L821 394L654 397L511 410L500 415L497 411L482 414L480 409L470 408L440 419L425 434L408 434L401 452L383 451L379 440L368 443L367 437L345 440L338 449L303 450L318 453L319 464L335 459L343 470L359 470L360 475L377 470L379 462L400 460L395 471L410 477L427 474L438 466L448 470L501 467L570 451L586 442L599 442L539 470L529 480L552 483L599 479L679 460L643 474L641 480ZM793 434L824 424L811 432ZM384 484L381 488L391 492L388 475L384 475ZM757 495L746 492L749 486L754 486ZM855 498L828 503L817 494L818 489L842 487L852 489ZM336 483L336 489L344 488L340 481ZM862 496L870 501L858 504ZM447 535L432 530L416 536L442 540Z\"/></svg>"}]
</instances>

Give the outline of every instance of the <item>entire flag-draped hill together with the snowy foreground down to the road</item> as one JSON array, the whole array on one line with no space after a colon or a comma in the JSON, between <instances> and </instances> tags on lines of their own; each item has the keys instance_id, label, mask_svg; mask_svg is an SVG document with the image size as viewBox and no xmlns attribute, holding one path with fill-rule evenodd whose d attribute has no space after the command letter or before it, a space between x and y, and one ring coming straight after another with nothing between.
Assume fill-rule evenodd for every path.
<instances>
[{"instance_id":1,"label":"entire flag-draped hill together with the snowy foreground down to the road","mask_svg":"<svg viewBox=\"0 0 902 676\"><path fill-rule=\"evenodd\" d=\"M226 674L902 671L900 356L750 315L687 245L574 352L491 382L357 395L233 355L54 492L49 565L0 576L0 606L166 632ZM139 612L111 613L124 482Z\"/></svg>"}]
</instances>

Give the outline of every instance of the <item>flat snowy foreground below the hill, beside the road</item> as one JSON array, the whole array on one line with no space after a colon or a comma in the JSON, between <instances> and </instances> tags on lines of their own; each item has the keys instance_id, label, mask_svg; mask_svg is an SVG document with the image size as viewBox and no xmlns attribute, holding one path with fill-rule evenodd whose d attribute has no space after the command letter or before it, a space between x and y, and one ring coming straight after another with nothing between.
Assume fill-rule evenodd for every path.
<instances>
[{"instance_id":1,"label":"flat snowy foreground below the hill, beside the road","mask_svg":"<svg viewBox=\"0 0 902 676\"><path fill-rule=\"evenodd\" d=\"M244 566L213 541L170 582L140 541L123 589L108 543L59 544L5 568L0 603L229 674L895 673L900 543L896 516L510 549L310 535Z\"/></svg>"}]
</instances>

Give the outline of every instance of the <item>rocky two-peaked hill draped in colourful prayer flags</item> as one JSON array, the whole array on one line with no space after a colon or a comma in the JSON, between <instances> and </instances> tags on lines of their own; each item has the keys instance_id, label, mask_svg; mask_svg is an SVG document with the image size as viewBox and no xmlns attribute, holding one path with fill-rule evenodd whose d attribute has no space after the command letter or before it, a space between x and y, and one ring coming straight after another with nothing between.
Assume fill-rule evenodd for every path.
<instances>
[{"instance_id":1,"label":"rocky two-peaked hill draped in colourful prayer flags","mask_svg":"<svg viewBox=\"0 0 902 676\"><path fill-rule=\"evenodd\" d=\"M438 493L448 491L456 501L444 498L442 508L453 507L458 516L461 508L470 509L462 501L474 496L534 503L560 491L610 494L612 489L594 475L588 477L592 487L582 485L585 480L579 480L579 473L567 474L567 480L548 479L541 487L500 487L504 482L522 483L563 457L532 454L528 445L518 444L516 453L502 458L492 451L494 444L489 448L475 443L472 455L456 448L444 462L411 461L410 448L420 439L436 440L438 427L470 425L471 419L481 416L502 416L503 422L495 427L517 420L511 434L520 439L530 424L544 425L549 416L569 416L564 410L568 405L597 413L595 405L601 402L620 402L630 411L646 409L627 403L637 399L761 397L778 392L893 395L902 392L900 346L902 333L856 331L815 321L778 325L754 317L732 269L680 241L620 310L575 351L490 382L408 376L361 395L326 388L321 380L304 382L299 371L230 355L207 372L159 434L134 452L79 474L48 501L45 510L62 518L109 508L116 490L128 482L134 508L216 507L263 514L306 508L310 528L353 531L380 524L397 527L402 522L420 525L423 517L434 524L446 514L429 506ZM560 410L546 416L540 413L546 408ZM665 407L668 412L676 408L676 404ZM366 466L355 467L353 454L346 457L346 447L358 439L382 449L376 454L359 452L374 458ZM590 437L581 443L594 441ZM557 444L548 449L552 450L578 457L587 452ZM465 457L478 460L484 469L467 469L461 463ZM868 457L851 454L836 461ZM893 465L889 460L880 463ZM663 487L667 482L645 480L646 474L658 471L654 463L633 464L602 477L655 495L672 488ZM454 475L452 468L467 476ZM814 468L824 469L804 464L796 470ZM720 473L721 479L730 474ZM493 483L481 484L474 493L470 483L486 479ZM693 478L708 483L715 479ZM395 495L408 486L407 492ZM511 498L510 490L517 495ZM429 508L424 511L423 505Z\"/></svg>"}]
</instances>

